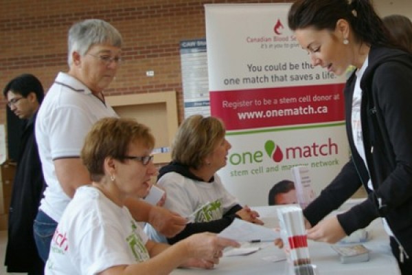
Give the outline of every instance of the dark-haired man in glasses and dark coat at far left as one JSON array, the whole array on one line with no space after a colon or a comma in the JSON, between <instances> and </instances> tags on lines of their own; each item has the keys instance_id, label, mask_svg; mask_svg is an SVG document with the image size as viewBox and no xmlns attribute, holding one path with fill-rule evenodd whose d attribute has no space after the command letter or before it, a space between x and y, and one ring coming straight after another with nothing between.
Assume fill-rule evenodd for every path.
<instances>
[{"instance_id":1,"label":"dark-haired man in glasses and dark coat at far left","mask_svg":"<svg viewBox=\"0 0 412 275\"><path fill-rule=\"evenodd\" d=\"M43 194L43 173L34 136L34 122L44 91L32 74L10 80L3 89L10 110L22 123L17 167L8 217L8 243L5 266L8 272L43 274L44 263L38 256L33 236L33 221Z\"/></svg>"}]
</instances>

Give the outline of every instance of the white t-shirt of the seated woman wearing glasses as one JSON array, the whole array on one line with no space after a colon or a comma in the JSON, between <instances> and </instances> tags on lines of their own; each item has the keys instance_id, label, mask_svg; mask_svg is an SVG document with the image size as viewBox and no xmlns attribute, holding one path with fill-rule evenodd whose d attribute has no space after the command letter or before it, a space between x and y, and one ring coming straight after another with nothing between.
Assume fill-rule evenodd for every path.
<instances>
[{"instance_id":1,"label":"white t-shirt of the seated woman wearing glasses","mask_svg":"<svg viewBox=\"0 0 412 275\"><path fill-rule=\"evenodd\" d=\"M147 241L125 206L117 206L97 188L81 186L58 223L45 274L91 275L147 261Z\"/></svg>"}]
</instances>

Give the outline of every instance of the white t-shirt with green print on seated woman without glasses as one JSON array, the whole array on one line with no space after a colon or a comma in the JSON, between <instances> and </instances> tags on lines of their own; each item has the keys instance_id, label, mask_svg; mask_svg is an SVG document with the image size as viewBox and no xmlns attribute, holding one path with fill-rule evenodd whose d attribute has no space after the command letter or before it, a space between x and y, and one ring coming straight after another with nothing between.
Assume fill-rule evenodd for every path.
<instances>
[{"instance_id":1,"label":"white t-shirt with green print on seated woman without glasses","mask_svg":"<svg viewBox=\"0 0 412 275\"><path fill-rule=\"evenodd\" d=\"M163 207L195 223L222 219L223 214L239 203L236 197L227 192L217 174L214 175L214 181L204 182L170 172L163 175L157 184L167 194ZM165 242L164 237L151 225L146 224L144 230L150 239Z\"/></svg>"}]
</instances>

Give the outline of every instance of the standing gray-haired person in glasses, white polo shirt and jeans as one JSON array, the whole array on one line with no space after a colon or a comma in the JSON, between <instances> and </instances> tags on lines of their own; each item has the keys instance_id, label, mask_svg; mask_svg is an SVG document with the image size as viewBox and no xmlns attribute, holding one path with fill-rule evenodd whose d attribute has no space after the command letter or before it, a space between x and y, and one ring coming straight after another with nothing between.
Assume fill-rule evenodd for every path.
<instances>
[{"instance_id":1,"label":"standing gray-haired person in glasses, white polo shirt and jeans","mask_svg":"<svg viewBox=\"0 0 412 275\"><path fill-rule=\"evenodd\" d=\"M36 137L47 187L41 201L34 234L44 261L56 225L76 188L91 182L80 160L84 137L94 122L117 117L106 104L103 91L119 69L122 36L113 25L88 19L71 26L68 35L69 72L60 72L38 111ZM126 206L137 221L152 223L174 236L185 219L160 207L130 198Z\"/></svg>"}]
</instances>

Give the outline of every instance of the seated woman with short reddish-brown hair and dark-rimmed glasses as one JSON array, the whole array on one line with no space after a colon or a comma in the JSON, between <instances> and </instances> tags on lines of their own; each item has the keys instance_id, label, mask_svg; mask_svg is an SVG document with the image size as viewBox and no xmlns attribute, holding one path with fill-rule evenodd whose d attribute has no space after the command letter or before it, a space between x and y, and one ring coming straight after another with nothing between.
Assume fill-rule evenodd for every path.
<instances>
[{"instance_id":1,"label":"seated woman with short reddish-brown hair and dark-rimmed glasses","mask_svg":"<svg viewBox=\"0 0 412 275\"><path fill-rule=\"evenodd\" d=\"M211 268L222 249L238 246L215 234L196 234L175 245L155 243L124 206L144 197L157 170L155 140L134 120L104 118L86 137L81 157L92 183L81 186L52 239L45 274L168 274L175 267Z\"/></svg>"}]
</instances>

